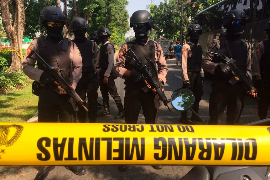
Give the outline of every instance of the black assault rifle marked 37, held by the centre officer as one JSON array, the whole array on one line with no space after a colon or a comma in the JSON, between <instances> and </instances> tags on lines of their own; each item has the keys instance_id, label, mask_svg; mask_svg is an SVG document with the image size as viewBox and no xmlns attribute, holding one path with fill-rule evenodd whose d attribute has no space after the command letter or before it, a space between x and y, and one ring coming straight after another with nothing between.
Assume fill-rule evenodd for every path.
<instances>
[{"instance_id":1,"label":"black assault rifle marked 37, held by the centre officer","mask_svg":"<svg viewBox=\"0 0 270 180\"><path fill-rule=\"evenodd\" d=\"M130 57L127 55L127 52L131 51L132 54L135 56L136 59ZM136 54L132 51L131 48L129 48L122 56L126 56L128 58L134 59L136 61L136 63L139 65L139 69L141 71L141 73L143 74L144 79L147 81L147 85L143 87L143 91L144 92L148 92L149 90L152 89L156 89L157 90L157 95L159 97L159 99L164 103L165 106L168 107L169 111L172 112L171 108L169 107L168 103L170 102L169 100L167 100L166 95L164 94L164 92L162 91L162 86L160 87L157 83L157 81L155 80L155 78L153 77L153 75L150 73L150 71L148 70L146 65L143 65L142 62L138 59L138 57L136 56ZM151 65L154 67L154 64L149 61L149 63L151 63Z\"/></svg>"}]
</instances>

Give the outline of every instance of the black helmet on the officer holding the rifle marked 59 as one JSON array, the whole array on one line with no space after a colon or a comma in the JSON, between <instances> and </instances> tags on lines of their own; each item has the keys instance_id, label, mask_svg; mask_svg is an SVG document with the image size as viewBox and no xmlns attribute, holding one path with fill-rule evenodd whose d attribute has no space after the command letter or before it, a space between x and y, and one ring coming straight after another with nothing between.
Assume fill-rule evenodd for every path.
<instances>
[{"instance_id":1,"label":"black helmet on the officer holding the rifle marked 59","mask_svg":"<svg viewBox=\"0 0 270 180\"><path fill-rule=\"evenodd\" d=\"M229 22L233 20L242 19L247 21L247 14L243 10L233 9L231 11L228 11L224 16L222 20L222 26L225 27Z\"/></svg>"}]
</instances>

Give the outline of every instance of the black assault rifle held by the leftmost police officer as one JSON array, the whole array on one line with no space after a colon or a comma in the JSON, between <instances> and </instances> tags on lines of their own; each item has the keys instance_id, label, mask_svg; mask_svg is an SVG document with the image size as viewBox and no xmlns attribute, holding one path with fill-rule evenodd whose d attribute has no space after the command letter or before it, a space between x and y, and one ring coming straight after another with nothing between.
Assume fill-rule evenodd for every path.
<instances>
[{"instance_id":1,"label":"black assault rifle held by the leftmost police officer","mask_svg":"<svg viewBox=\"0 0 270 180\"><path fill-rule=\"evenodd\" d=\"M27 58L31 58L33 54L36 54L36 56L38 57L36 58L36 60L39 61L39 63L41 63L45 67L46 71L50 75L52 75L55 78L56 82L59 84L57 88L58 92L59 88L65 89L65 91L75 100L78 107L82 107L87 112L88 109L84 105L85 101L82 100L80 96L76 93L76 91L72 87L70 87L69 83L58 74L63 69L57 69L55 67L50 66L34 49L32 49L31 53L27 56Z\"/></svg>"}]
</instances>

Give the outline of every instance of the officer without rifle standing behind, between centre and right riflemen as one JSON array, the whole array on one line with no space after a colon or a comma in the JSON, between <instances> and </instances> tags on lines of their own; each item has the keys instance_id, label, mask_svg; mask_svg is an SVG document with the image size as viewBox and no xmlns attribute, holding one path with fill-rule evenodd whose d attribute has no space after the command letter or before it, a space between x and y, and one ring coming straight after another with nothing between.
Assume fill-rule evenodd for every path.
<instances>
[{"instance_id":1,"label":"officer without rifle standing behind, between centre and right riflemen","mask_svg":"<svg viewBox=\"0 0 270 180\"><path fill-rule=\"evenodd\" d=\"M195 95L195 102L192 109L198 113L199 103L202 96L202 82L204 82L204 72L201 68L202 47L198 43L202 28L199 24L192 24L188 27L188 36L190 41L183 45L182 48L182 73L183 88L190 89ZM191 119L188 119L187 112L181 112L179 122L184 124L194 124L197 117L192 113ZM199 121L199 120L197 120Z\"/></svg>"}]
</instances>

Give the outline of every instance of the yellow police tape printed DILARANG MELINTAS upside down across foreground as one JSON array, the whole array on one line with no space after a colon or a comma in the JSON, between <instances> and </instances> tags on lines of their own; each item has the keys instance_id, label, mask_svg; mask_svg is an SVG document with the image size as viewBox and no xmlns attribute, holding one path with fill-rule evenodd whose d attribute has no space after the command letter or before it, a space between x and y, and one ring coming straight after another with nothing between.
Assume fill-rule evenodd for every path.
<instances>
[{"instance_id":1,"label":"yellow police tape printed DILARANG MELINTAS upside down across foreground","mask_svg":"<svg viewBox=\"0 0 270 180\"><path fill-rule=\"evenodd\" d=\"M0 165L270 165L270 127L0 123Z\"/></svg>"}]
</instances>

